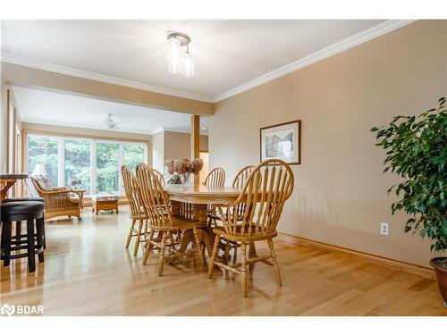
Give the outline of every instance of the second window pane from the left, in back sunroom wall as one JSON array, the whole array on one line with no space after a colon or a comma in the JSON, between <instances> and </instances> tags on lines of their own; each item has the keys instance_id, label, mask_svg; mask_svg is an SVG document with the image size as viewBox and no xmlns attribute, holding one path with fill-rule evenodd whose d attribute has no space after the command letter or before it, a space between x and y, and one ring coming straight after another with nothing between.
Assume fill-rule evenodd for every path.
<instances>
[{"instance_id":1,"label":"second window pane from the left, in back sunroom wall","mask_svg":"<svg viewBox=\"0 0 447 335\"><path fill-rule=\"evenodd\" d=\"M81 188L90 194L90 143L83 139L65 139L64 185Z\"/></svg>"}]
</instances>

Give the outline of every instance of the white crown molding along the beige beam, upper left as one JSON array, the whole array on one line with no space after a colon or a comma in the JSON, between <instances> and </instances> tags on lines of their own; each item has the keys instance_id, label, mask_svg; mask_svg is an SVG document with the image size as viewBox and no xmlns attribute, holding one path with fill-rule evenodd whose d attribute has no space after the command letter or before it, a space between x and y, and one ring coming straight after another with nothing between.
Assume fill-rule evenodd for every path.
<instances>
[{"instance_id":1,"label":"white crown molding along the beige beam, upper left","mask_svg":"<svg viewBox=\"0 0 447 335\"><path fill-rule=\"evenodd\" d=\"M75 68L71 68L68 66L63 65L57 65L54 63L46 63L37 61L34 59L30 59L27 57L21 57L14 54L1 54L1 61L4 63L12 63L16 65L22 65L27 66L30 68L38 69L38 70L44 70L44 71L50 71L55 73L61 73L68 76L73 77L79 77L86 80L96 80L96 81L102 81L106 82L108 84L114 84L119 86L124 86L127 88L137 88L137 89L143 89L145 91L150 91L154 93L160 93L168 96L177 96L182 97L185 99L192 99L192 100L198 100L203 101L206 103L214 103L214 99L211 96L203 96L188 92L179 91L172 88L162 88L159 86L154 85L148 85L139 81L133 81L133 80L124 80L122 78L117 78L113 76L107 76L105 74L97 73L97 72L90 72L90 71L83 71Z\"/></svg>"}]
</instances>

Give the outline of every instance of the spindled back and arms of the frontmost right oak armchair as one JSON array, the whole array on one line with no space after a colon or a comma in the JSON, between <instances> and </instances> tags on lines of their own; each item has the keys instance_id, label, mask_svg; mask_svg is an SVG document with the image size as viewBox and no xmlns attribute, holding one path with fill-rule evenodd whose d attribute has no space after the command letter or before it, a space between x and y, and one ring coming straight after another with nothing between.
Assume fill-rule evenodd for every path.
<instances>
[{"instance_id":1,"label":"spindled back and arms of the frontmost right oak armchair","mask_svg":"<svg viewBox=\"0 0 447 335\"><path fill-rule=\"evenodd\" d=\"M218 209L225 232L240 237L273 234L293 186L289 164L276 159L258 164L250 172L238 199L227 206L227 216L222 208Z\"/></svg>"}]
</instances>

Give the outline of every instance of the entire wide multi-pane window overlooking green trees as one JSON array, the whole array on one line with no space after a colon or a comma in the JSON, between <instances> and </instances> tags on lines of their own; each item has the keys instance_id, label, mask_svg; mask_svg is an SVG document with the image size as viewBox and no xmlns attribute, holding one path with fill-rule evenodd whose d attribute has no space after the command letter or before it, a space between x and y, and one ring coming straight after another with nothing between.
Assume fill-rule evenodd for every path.
<instances>
[{"instance_id":1,"label":"entire wide multi-pane window overlooking green trees","mask_svg":"<svg viewBox=\"0 0 447 335\"><path fill-rule=\"evenodd\" d=\"M28 171L42 164L53 185L85 189L87 195L123 194L122 164L134 170L147 156L143 143L28 135Z\"/></svg>"}]
</instances>

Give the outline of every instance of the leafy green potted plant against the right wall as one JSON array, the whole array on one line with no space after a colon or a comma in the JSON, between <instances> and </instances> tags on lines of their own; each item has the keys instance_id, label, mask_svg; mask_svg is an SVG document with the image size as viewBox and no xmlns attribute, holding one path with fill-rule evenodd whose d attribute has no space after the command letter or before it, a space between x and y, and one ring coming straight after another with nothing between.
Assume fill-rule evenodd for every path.
<instances>
[{"instance_id":1,"label":"leafy green potted plant against the right wall","mask_svg":"<svg viewBox=\"0 0 447 335\"><path fill-rule=\"evenodd\" d=\"M392 214L410 215L405 232L413 230L433 243L431 251L447 250L447 109L445 97L437 108L418 116L395 116L388 128L373 128L376 146L386 150L384 172L391 170L403 178L388 189L400 200L392 204ZM430 261L447 307L447 257Z\"/></svg>"}]
</instances>

